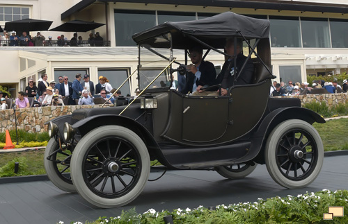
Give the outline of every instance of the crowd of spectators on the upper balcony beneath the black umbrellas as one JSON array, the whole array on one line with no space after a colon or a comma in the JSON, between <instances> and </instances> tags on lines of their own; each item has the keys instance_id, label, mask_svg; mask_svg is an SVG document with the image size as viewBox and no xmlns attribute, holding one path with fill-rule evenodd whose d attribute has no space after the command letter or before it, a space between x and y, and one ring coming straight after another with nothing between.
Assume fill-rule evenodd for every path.
<instances>
[{"instance_id":1,"label":"crowd of spectators on the upper balcony beneath the black umbrellas","mask_svg":"<svg viewBox=\"0 0 348 224\"><path fill-rule=\"evenodd\" d=\"M83 40L81 36L77 36L77 33L74 33L73 37L68 40L64 35L57 37L57 40L52 40L52 36L48 37L48 40L45 36L41 35L38 32L35 37L27 34L25 31L22 35L18 34L16 31L3 31L3 35L0 36L1 46L108 46L105 44L103 37L100 36L100 33L97 32L95 35L90 33L88 40Z\"/></svg>"}]
</instances>

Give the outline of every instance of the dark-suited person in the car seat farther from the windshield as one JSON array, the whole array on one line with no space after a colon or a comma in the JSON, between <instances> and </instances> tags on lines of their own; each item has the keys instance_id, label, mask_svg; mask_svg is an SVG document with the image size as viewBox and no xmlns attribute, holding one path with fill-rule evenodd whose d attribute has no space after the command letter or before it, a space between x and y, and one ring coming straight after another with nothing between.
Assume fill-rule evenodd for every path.
<instances>
[{"instance_id":1,"label":"dark-suited person in the car seat farther from the windshield","mask_svg":"<svg viewBox=\"0 0 348 224\"><path fill-rule=\"evenodd\" d=\"M234 37L228 38L226 40L225 50L228 55L235 55L235 39ZM239 72L242 69L242 66L247 59L246 56L243 55L243 40L237 38L237 47L236 47L236 70ZM235 59L234 57L228 58L226 62L223 64L221 72L219 76L216 78L216 84L221 84L221 96L226 96L228 93L228 89L233 85L248 85L251 84L253 80L254 66L251 60L248 60L246 66L244 67L242 74L238 75L237 82L235 82ZM210 94L217 96L219 92L215 92L214 94Z\"/></svg>"}]
</instances>

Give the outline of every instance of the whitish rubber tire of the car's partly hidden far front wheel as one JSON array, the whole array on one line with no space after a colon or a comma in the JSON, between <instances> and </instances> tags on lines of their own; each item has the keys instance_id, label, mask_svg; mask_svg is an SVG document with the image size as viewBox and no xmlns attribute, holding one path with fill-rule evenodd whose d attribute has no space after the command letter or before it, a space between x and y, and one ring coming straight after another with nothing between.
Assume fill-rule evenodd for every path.
<instances>
[{"instance_id":1,"label":"whitish rubber tire of the car's partly hidden far front wheel","mask_svg":"<svg viewBox=\"0 0 348 224\"><path fill-rule=\"evenodd\" d=\"M54 138L49 139L49 142L45 149L45 155L44 155L44 166L46 170L47 177L51 182L58 187L58 189L61 189L62 191L67 191L70 193L75 193L76 189L74 187L74 184L69 184L68 182L65 182L62 180L61 176L59 176L56 173L56 163L53 161L47 160L47 157L51 155L55 150L58 149L58 143Z\"/></svg>"}]
</instances>

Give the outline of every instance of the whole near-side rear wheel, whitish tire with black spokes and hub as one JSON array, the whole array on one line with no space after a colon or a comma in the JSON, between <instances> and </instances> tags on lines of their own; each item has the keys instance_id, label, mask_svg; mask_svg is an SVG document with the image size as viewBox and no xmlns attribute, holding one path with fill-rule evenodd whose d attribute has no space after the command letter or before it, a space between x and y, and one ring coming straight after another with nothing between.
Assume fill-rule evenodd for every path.
<instances>
[{"instance_id":1,"label":"whole near-side rear wheel, whitish tire with black spokes and hub","mask_svg":"<svg viewBox=\"0 0 348 224\"><path fill-rule=\"evenodd\" d=\"M272 130L267 139L267 170L283 187L306 187L319 175L323 159L322 139L306 121L284 121Z\"/></svg>"}]
</instances>

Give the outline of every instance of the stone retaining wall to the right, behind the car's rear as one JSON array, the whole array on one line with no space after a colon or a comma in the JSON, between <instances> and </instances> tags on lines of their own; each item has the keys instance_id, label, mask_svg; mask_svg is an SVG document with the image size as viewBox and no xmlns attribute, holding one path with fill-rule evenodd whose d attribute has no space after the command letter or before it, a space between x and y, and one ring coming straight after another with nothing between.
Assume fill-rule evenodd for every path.
<instances>
[{"instance_id":1,"label":"stone retaining wall to the right, behind the car's rear","mask_svg":"<svg viewBox=\"0 0 348 224\"><path fill-rule=\"evenodd\" d=\"M338 105L338 103L346 103L348 101L348 94L307 94L296 96L276 96L281 98L299 98L301 105L311 102L325 102L329 107Z\"/></svg>"}]
</instances>

